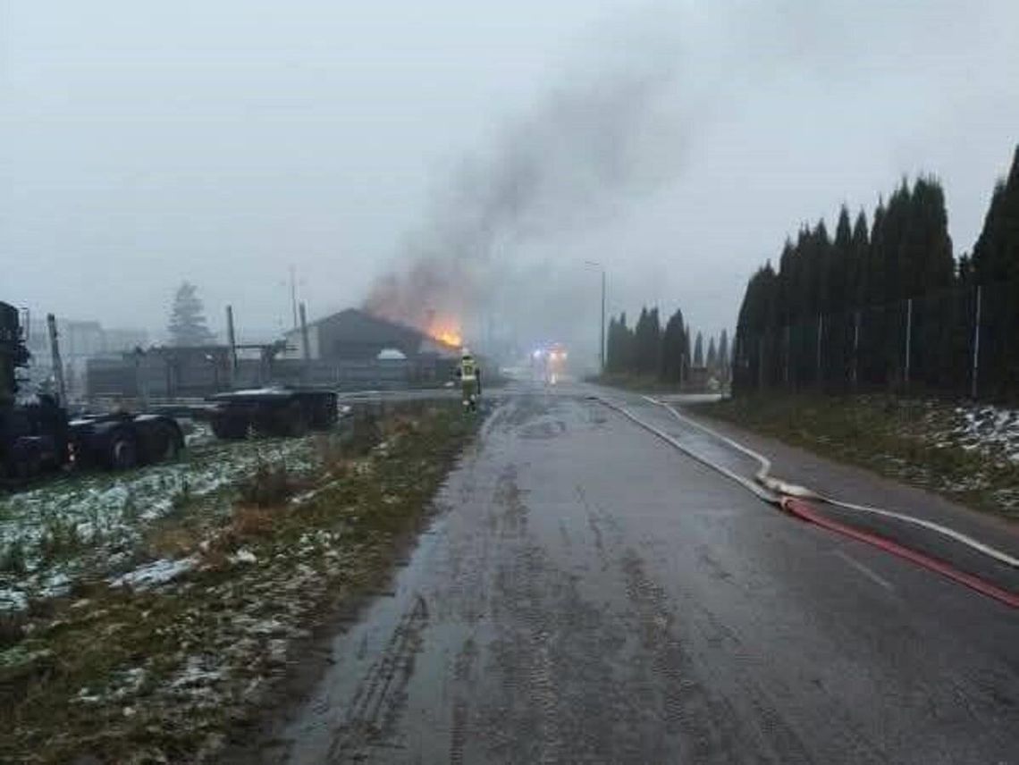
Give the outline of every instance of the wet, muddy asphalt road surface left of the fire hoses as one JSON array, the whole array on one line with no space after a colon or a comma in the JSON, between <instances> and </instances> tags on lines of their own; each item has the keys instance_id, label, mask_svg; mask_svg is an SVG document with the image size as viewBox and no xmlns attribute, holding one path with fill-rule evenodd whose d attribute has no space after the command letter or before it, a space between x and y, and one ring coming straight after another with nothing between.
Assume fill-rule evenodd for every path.
<instances>
[{"instance_id":1,"label":"wet, muddy asphalt road surface left of the fire hoses","mask_svg":"<svg viewBox=\"0 0 1019 765\"><path fill-rule=\"evenodd\" d=\"M1019 614L584 392L493 404L264 761L1019 763Z\"/></svg>"}]
</instances>

